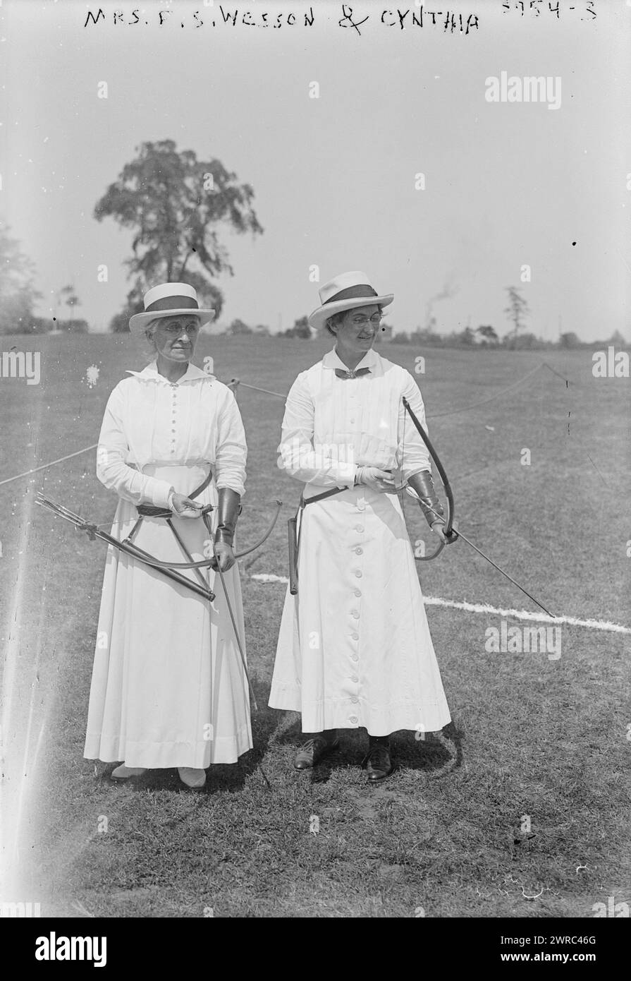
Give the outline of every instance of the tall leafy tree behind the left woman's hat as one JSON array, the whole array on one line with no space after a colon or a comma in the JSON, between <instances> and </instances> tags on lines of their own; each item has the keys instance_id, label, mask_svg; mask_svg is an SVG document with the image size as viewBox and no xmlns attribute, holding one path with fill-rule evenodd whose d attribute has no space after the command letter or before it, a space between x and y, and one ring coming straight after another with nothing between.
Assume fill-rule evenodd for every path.
<instances>
[{"instance_id":1,"label":"tall leafy tree behind the left woman's hat","mask_svg":"<svg viewBox=\"0 0 631 981\"><path fill-rule=\"evenodd\" d=\"M133 255L125 262L134 281L128 304L136 307L161 280L182 281L220 310L221 293L211 280L220 273L232 276L233 270L218 229L263 232L252 187L239 184L215 158L201 161L193 150L178 152L172 139L142 143L136 152L94 209L97 221L110 217L134 232Z\"/></svg>"}]
</instances>

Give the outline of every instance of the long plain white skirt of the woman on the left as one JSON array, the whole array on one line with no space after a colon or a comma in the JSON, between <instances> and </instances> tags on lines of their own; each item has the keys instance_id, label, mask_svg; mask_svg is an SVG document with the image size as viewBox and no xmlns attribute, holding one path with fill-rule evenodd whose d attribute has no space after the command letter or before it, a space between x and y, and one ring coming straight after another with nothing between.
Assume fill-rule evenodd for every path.
<instances>
[{"instance_id":1,"label":"long plain white skirt of the woman on the left","mask_svg":"<svg viewBox=\"0 0 631 981\"><path fill-rule=\"evenodd\" d=\"M144 472L190 493L205 466L153 466ZM213 482L197 498L217 504ZM120 500L112 535L124 539L138 517ZM216 520L216 512L213 512ZM207 556L199 519L173 517L195 561ZM164 518L144 518L134 544L172 562L186 557ZM207 549L208 551L208 549ZM203 570L214 602L190 592L118 549L108 548L84 755L127 766L206 768L252 749L247 680L218 573ZM195 580L192 571L182 575ZM224 574L245 651L238 567Z\"/></svg>"}]
</instances>

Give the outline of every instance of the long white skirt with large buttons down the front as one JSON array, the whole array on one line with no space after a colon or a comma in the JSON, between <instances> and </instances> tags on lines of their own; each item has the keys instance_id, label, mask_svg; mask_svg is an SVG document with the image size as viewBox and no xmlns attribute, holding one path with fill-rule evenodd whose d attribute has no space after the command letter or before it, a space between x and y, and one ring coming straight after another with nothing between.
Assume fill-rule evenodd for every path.
<instances>
[{"instance_id":1,"label":"long white skirt with large buttons down the front","mask_svg":"<svg viewBox=\"0 0 631 981\"><path fill-rule=\"evenodd\" d=\"M437 732L451 721L395 494L345 490L303 512L298 595L287 590L269 705L303 732Z\"/></svg>"}]
</instances>

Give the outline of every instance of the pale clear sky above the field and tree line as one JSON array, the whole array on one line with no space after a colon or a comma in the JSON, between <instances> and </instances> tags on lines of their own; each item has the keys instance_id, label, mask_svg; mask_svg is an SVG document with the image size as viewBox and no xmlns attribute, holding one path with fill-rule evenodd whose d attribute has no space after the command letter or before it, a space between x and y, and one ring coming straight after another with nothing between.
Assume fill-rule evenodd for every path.
<instances>
[{"instance_id":1,"label":"pale clear sky above the field and tree line","mask_svg":"<svg viewBox=\"0 0 631 981\"><path fill-rule=\"evenodd\" d=\"M513 0L436 0L413 26L420 5L399 0L401 29L392 2L347 4L368 19L358 30L328 0L221 4L235 26L217 0L4 0L0 216L35 264L38 313L70 283L76 315L107 330L131 233L94 205L140 143L170 138L250 183L265 230L221 232L234 276L217 280L219 327L291 327L318 305L317 267L319 284L363 270L394 292L395 332L432 316L441 332L504 335L514 285L538 336L631 338L631 5L559 0L558 16L542 2L522 17ZM99 6L105 21L84 26ZM468 34L444 29L448 9ZM503 72L549 77L560 105L488 101Z\"/></svg>"}]
</instances>

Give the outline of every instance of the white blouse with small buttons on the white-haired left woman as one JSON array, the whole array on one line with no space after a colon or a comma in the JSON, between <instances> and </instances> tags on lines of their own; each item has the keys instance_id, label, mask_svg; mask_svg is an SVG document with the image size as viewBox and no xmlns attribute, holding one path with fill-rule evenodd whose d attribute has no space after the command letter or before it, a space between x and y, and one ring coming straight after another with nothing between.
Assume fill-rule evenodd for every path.
<instances>
[{"instance_id":1,"label":"white blouse with small buttons on the white-haired left woman","mask_svg":"<svg viewBox=\"0 0 631 981\"><path fill-rule=\"evenodd\" d=\"M134 504L167 507L168 481L143 474L150 464L210 464L218 488L245 493L247 446L232 391L190 364L174 383L156 361L128 372L113 389L97 449L97 477ZM179 491L178 491L179 492Z\"/></svg>"}]
</instances>

